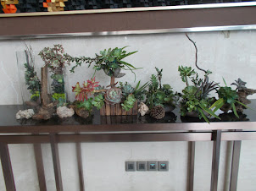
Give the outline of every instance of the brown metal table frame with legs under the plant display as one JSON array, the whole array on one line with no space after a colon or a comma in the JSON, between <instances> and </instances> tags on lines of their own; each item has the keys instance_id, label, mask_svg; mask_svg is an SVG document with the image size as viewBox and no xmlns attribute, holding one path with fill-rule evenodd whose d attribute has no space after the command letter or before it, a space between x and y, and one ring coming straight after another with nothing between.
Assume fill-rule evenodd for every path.
<instances>
[{"instance_id":1,"label":"brown metal table frame with legs under the plant display","mask_svg":"<svg viewBox=\"0 0 256 191\"><path fill-rule=\"evenodd\" d=\"M224 125L225 124L225 125ZM34 144L36 167L39 171L38 179L40 190L45 190L44 172L42 171L41 143L50 143L53 154L53 167L56 179L56 188L62 191L61 168L59 164L58 143L76 143L77 165L79 169L80 188L85 190L82 172L81 142L140 142L140 141L192 141L189 147L188 185L187 190L193 190L195 141L214 141L212 159L211 190L217 190L220 163L221 140L234 140L233 158L231 162L230 190L237 190L237 177L241 140L256 140L256 123L158 123L158 124L119 124L115 125L75 125L70 126L42 126L37 127L0 127L0 154L3 166L5 183L8 190L15 190L11 162L8 154L8 144ZM147 130L144 127L147 125ZM93 128L92 128L93 127ZM238 128L237 128L238 127ZM102 131L104 128L104 131ZM180 128L180 129L179 129ZM179 132L177 130L179 129ZM189 131L187 131L189 129ZM243 129L243 131L242 131ZM249 131L248 131L249 130ZM35 132L37 131L37 134ZM70 132L70 134L59 133ZM27 133L13 134L9 133ZM39 134L44 133L44 134ZM45 134L47 133L47 134ZM75 133L75 134L74 134ZM5 135L6 134L6 135ZM36 148L39 148L36 149ZM40 170L41 169L41 170Z\"/></svg>"}]
</instances>

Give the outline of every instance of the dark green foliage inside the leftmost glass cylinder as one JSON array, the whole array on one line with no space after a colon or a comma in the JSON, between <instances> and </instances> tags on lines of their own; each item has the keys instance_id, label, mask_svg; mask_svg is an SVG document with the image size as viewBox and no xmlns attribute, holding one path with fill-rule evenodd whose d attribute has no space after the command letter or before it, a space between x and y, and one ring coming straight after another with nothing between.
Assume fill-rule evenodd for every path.
<instances>
[{"instance_id":1,"label":"dark green foliage inside the leftmost glass cylinder","mask_svg":"<svg viewBox=\"0 0 256 191\"><path fill-rule=\"evenodd\" d=\"M31 101L37 101L40 96L41 82L36 75L35 67L29 63L25 63L25 85L31 91Z\"/></svg>"}]
</instances>

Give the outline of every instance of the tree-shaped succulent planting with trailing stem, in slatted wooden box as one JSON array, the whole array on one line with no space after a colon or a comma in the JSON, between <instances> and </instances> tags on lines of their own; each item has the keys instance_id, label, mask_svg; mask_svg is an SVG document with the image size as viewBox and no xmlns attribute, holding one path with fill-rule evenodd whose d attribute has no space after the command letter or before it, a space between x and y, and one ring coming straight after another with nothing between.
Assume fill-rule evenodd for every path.
<instances>
[{"instance_id":1,"label":"tree-shaped succulent planting with trailing stem, in slatted wooden box","mask_svg":"<svg viewBox=\"0 0 256 191\"><path fill-rule=\"evenodd\" d=\"M115 86L118 83L115 82L115 78L121 78L125 75L121 73L121 69L130 70L133 74L135 74L133 70L138 68L135 68L133 65L131 65L131 63L126 63L123 61L125 57L136 53L126 52L124 50L125 47L115 47L114 49L109 48L108 50L105 49L99 54L96 54L96 57L71 57L70 55L66 55L69 62L75 62L75 66L71 68L70 72L74 72L76 67L81 66L81 63L88 63L88 67L90 67L92 64L94 65L93 68L95 72L103 69L104 73L111 77L110 85L107 86L110 87L110 89L105 90L105 106L103 106L103 109L101 110L101 115L126 115L126 112L121 111L120 102L122 101L122 90L120 87ZM136 101L133 95L129 95L129 100L125 102L124 108L128 110L132 103L135 102ZM127 113L136 115L136 110L134 110L134 112Z\"/></svg>"}]
</instances>

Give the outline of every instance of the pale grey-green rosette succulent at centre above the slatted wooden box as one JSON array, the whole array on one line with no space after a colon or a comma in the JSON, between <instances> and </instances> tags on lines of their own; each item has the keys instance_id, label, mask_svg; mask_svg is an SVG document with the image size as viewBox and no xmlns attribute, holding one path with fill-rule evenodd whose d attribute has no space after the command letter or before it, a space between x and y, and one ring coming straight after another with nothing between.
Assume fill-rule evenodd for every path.
<instances>
[{"instance_id":1,"label":"pale grey-green rosette succulent at centre above the slatted wooden box","mask_svg":"<svg viewBox=\"0 0 256 191\"><path fill-rule=\"evenodd\" d=\"M106 91L105 101L111 105L121 102L122 90L117 87L112 87Z\"/></svg>"}]
</instances>

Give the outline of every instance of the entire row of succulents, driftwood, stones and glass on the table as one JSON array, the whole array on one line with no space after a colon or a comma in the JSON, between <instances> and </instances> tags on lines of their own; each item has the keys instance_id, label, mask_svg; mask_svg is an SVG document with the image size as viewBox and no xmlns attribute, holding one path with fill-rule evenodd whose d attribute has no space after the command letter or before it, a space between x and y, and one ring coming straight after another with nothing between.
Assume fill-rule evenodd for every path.
<instances>
[{"instance_id":1,"label":"entire row of succulents, driftwood, stones and glass on the table","mask_svg":"<svg viewBox=\"0 0 256 191\"><path fill-rule=\"evenodd\" d=\"M23 63L23 67L25 85L31 97L25 104L30 109L17 112L16 118L32 117L36 120L48 120L53 115L64 118L72 117L75 113L79 117L86 118L93 114L93 108L99 110L102 116L149 115L154 120L164 118L166 112L171 112L175 108L181 109L182 117L198 117L207 123L213 117L220 120L220 116L216 114L219 110L232 111L236 117L239 117L238 113L247 109L250 103L247 96L255 94L256 90L248 89L242 79L237 79L231 84L237 86L236 90L232 90L226 83L225 86L220 86L219 83L211 81L209 79L211 72L198 66L196 43L188 35L186 37L196 50L195 67L204 75L200 78L192 67L179 66L181 80L186 85L181 93L174 92L169 84L163 85L164 68L155 68L156 74L152 74L144 85L138 81L133 87L128 82L117 81L116 79L125 76L123 70L133 73L136 81L134 70L142 69L124 61L125 57L136 53L136 51L126 52L126 46L104 49L96 53L95 57L72 57L64 52L61 45L46 47L39 53L44 62L41 78L36 73L31 46L26 46L26 62ZM75 73L75 68L80 67L81 64L86 64L88 67L92 66L94 74L91 78L83 79L83 83L77 82L72 85L75 101L70 102L67 100L66 90L71 87L65 86L65 73L66 66L72 63L75 65L71 67L71 73ZM110 83L106 87L97 81L99 70L103 70L104 74L109 76ZM214 91L218 99L210 96Z\"/></svg>"}]
</instances>

